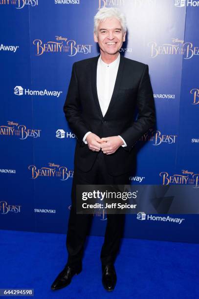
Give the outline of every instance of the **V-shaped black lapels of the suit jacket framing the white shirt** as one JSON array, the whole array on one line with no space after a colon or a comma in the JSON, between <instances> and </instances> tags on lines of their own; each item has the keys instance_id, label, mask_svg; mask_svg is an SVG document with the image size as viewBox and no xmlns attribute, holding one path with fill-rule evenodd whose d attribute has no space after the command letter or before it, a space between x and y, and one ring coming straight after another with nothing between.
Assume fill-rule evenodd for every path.
<instances>
[{"instance_id":1,"label":"V-shaped black lapels of the suit jacket framing the white shirt","mask_svg":"<svg viewBox=\"0 0 199 299\"><path fill-rule=\"evenodd\" d=\"M92 64L92 71L91 71L92 92L93 92L93 98L94 98L95 104L97 106L97 109L100 113L100 116L103 119L105 119L111 112L112 106L114 105L114 103L117 100L118 91L119 91L119 88L120 88L120 85L122 82L122 75L123 75L123 70L124 70L124 57L122 55L120 55L120 62L119 62L119 67L118 67L117 76L116 76L116 80L115 80L115 85L114 85L112 96L111 96L111 101L110 101L109 107L108 107L107 112L104 117L102 114L102 110L100 108L99 99L98 99L98 95L97 95L97 62L98 62L99 57L100 57L100 55L96 56L93 61L93 64Z\"/></svg>"}]
</instances>

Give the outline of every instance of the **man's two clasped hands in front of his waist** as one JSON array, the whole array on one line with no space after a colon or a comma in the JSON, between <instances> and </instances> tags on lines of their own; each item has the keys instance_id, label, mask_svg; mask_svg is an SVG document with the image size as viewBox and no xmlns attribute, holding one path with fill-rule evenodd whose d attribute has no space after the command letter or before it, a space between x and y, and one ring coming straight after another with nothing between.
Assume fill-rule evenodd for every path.
<instances>
[{"instance_id":1,"label":"man's two clasped hands in front of his waist","mask_svg":"<svg viewBox=\"0 0 199 299\"><path fill-rule=\"evenodd\" d=\"M100 149L102 149L103 153L107 155L114 153L121 145L124 144L122 139L118 136L100 138L94 133L89 133L86 141L90 150L100 151Z\"/></svg>"}]
</instances>

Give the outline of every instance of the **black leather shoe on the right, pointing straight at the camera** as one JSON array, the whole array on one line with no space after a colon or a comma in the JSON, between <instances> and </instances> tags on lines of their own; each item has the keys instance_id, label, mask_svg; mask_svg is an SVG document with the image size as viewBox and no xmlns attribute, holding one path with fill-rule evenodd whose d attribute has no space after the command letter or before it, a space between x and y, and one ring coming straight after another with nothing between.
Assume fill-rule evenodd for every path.
<instances>
[{"instance_id":1,"label":"black leather shoe on the right, pointing straight at the camera","mask_svg":"<svg viewBox=\"0 0 199 299\"><path fill-rule=\"evenodd\" d=\"M113 291L117 281L114 265L102 266L102 284L107 291Z\"/></svg>"}]
</instances>

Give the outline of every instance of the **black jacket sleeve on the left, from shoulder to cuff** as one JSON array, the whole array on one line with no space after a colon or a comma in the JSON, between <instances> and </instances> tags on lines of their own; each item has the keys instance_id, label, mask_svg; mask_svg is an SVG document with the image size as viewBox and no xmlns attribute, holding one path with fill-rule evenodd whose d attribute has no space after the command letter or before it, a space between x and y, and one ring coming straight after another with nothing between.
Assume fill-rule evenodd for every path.
<instances>
[{"instance_id":1,"label":"black jacket sleeve on the left, from shoulder to cuff","mask_svg":"<svg viewBox=\"0 0 199 299\"><path fill-rule=\"evenodd\" d=\"M84 122L81 115L81 103L79 100L78 81L75 71L75 63L72 65L72 74L68 91L66 95L66 101L63 107L66 120L69 127L77 137L77 141L80 146L85 145L83 142L84 135L89 131L87 124Z\"/></svg>"}]
</instances>

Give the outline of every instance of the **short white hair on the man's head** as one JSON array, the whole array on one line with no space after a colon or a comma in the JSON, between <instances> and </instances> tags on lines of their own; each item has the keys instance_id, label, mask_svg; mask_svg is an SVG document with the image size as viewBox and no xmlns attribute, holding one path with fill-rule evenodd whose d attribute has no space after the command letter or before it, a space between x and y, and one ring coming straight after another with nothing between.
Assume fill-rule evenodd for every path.
<instances>
[{"instance_id":1,"label":"short white hair on the man's head","mask_svg":"<svg viewBox=\"0 0 199 299\"><path fill-rule=\"evenodd\" d=\"M94 16L94 33L97 35L97 27L101 21L107 18L117 19L122 26L123 33L127 31L127 22L125 15L116 7L102 7Z\"/></svg>"}]
</instances>

